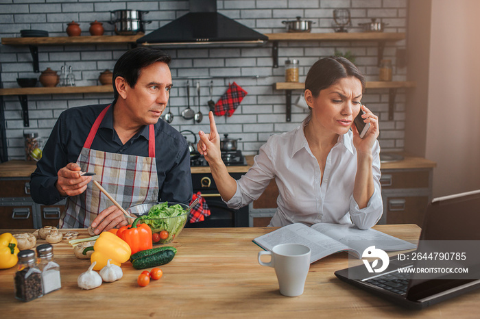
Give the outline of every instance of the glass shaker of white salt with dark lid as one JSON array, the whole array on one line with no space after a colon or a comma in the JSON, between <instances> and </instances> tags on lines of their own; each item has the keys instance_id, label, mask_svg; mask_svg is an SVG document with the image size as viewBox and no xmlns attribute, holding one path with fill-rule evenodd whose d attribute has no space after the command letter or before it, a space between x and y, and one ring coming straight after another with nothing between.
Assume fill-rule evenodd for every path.
<instances>
[{"instance_id":1,"label":"glass shaker of white salt with dark lid","mask_svg":"<svg viewBox=\"0 0 480 319\"><path fill-rule=\"evenodd\" d=\"M43 244L36 248L38 269L42 272L43 294L62 288L60 281L60 266L53 261L53 246Z\"/></svg>"}]
</instances>

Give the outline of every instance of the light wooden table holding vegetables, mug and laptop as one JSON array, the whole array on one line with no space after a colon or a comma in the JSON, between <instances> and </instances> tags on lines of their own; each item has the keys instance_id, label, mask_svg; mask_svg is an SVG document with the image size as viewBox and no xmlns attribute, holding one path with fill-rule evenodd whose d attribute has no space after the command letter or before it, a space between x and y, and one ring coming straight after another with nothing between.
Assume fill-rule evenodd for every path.
<instances>
[{"instance_id":1,"label":"light wooden table holding vegetables, mug and laptop","mask_svg":"<svg viewBox=\"0 0 480 319\"><path fill-rule=\"evenodd\" d=\"M377 225L403 240L418 240L416 225ZM76 259L67 242L54 244L62 289L23 303L14 298L15 268L0 270L2 318L460 318L478 316L480 291L470 292L422 311L403 309L339 281L335 270L348 267L348 255L337 253L311 264L304 294L278 292L274 270L260 266L260 248L252 239L272 228L184 229L171 245L178 253L160 266L163 277L139 287L129 262L123 278L95 290L80 290L77 277L88 259ZM0 233L5 230L0 231ZM19 232L19 230L12 231ZM81 230L81 237L86 237ZM38 244L43 243L39 240Z\"/></svg>"}]
</instances>

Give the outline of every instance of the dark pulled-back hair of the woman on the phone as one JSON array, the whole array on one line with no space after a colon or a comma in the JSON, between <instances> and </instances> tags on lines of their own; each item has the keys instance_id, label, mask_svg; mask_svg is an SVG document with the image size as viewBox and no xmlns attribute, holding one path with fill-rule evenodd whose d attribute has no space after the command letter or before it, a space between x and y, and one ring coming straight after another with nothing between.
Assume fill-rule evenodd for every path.
<instances>
[{"instance_id":1,"label":"dark pulled-back hair of the woman on the phone","mask_svg":"<svg viewBox=\"0 0 480 319\"><path fill-rule=\"evenodd\" d=\"M305 89L311 90L313 97L318 97L321 90L345 77L357 77L361 82L362 91L365 90L365 77L355 64L343 57L323 58L311 66L305 79Z\"/></svg>"}]
</instances>

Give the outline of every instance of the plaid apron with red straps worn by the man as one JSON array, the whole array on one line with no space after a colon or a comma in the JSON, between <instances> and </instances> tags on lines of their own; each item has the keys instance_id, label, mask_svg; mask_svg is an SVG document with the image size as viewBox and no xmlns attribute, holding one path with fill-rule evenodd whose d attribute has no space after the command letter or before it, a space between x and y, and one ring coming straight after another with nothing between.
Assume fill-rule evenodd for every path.
<instances>
[{"instance_id":1,"label":"plaid apron with red straps worn by the man","mask_svg":"<svg viewBox=\"0 0 480 319\"><path fill-rule=\"evenodd\" d=\"M82 172L94 172L93 179L127 209L133 205L158 201L158 176L155 162L154 125L149 125L148 156L124 155L91 149L91 145L108 105L97 117L88 133L77 164ZM85 192L69 196L60 217L60 228L85 228L97 215L113 203L100 190L88 183Z\"/></svg>"}]
</instances>

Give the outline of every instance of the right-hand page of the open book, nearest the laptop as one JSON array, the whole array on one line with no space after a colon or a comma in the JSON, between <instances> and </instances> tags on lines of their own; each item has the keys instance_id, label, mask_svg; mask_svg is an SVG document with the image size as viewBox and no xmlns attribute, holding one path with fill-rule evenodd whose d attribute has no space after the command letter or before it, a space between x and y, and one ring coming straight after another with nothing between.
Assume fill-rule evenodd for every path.
<instances>
[{"instance_id":1,"label":"right-hand page of the open book, nearest the laptop","mask_svg":"<svg viewBox=\"0 0 480 319\"><path fill-rule=\"evenodd\" d=\"M319 231L328 237L331 237L342 244L345 244L357 253L360 258L365 248L374 246L383 249L384 251L403 251L407 249L414 249L416 245L400 240L381 231L375 229L358 229L353 224L338 225L320 223L312 225L312 229Z\"/></svg>"}]
</instances>

